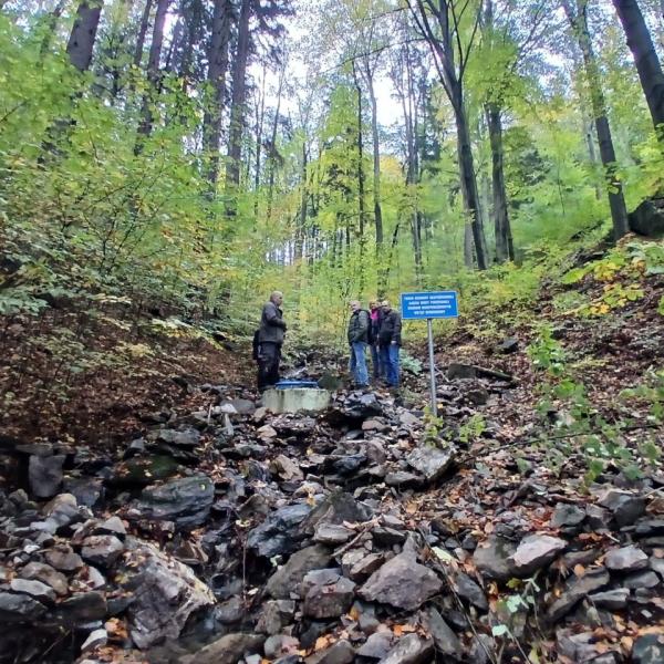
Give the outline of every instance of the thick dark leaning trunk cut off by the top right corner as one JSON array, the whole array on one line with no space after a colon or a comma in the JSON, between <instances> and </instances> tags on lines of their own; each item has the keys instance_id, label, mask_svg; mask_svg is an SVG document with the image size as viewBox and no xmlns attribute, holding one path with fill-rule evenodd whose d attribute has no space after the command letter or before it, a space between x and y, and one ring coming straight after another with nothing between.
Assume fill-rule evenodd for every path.
<instances>
[{"instance_id":1,"label":"thick dark leaning trunk cut off by the top right corner","mask_svg":"<svg viewBox=\"0 0 664 664\"><path fill-rule=\"evenodd\" d=\"M636 0L613 0L660 141L664 141L664 73Z\"/></svg>"}]
</instances>

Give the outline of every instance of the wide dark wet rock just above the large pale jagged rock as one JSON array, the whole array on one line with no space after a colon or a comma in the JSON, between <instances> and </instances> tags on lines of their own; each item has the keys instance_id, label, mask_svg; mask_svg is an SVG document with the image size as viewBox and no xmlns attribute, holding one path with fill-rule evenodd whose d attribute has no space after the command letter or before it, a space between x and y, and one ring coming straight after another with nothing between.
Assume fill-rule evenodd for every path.
<instances>
[{"instance_id":1,"label":"wide dark wet rock just above the large pale jagged rock","mask_svg":"<svg viewBox=\"0 0 664 664\"><path fill-rule=\"evenodd\" d=\"M178 528L196 528L207 519L214 500L212 480L207 475L194 475L143 489L127 516L173 521Z\"/></svg>"}]
</instances>

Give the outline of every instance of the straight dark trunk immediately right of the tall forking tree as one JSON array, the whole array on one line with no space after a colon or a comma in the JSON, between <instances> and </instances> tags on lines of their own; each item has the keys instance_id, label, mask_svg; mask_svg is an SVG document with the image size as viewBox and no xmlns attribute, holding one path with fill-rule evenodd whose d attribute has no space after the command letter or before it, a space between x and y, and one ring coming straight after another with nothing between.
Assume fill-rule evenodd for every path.
<instances>
[{"instance_id":1,"label":"straight dark trunk immediately right of the tall forking tree","mask_svg":"<svg viewBox=\"0 0 664 664\"><path fill-rule=\"evenodd\" d=\"M496 260L515 260L511 225L507 211L505 169L502 167L502 122L496 104L487 104L487 124L491 144L491 189L494 193L494 225L496 230Z\"/></svg>"}]
</instances>

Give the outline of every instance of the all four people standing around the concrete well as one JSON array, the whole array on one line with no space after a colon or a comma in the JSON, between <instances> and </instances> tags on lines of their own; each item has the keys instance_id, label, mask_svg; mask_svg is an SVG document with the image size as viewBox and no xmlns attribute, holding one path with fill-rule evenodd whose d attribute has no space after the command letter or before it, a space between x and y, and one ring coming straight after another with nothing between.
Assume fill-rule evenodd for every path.
<instances>
[{"instance_id":1,"label":"all four people standing around the concrete well","mask_svg":"<svg viewBox=\"0 0 664 664\"><path fill-rule=\"evenodd\" d=\"M260 326L253 335L253 360L258 364L258 388L260 391L279 382L281 346L287 325L281 304L283 294L273 291L262 308ZM357 387L369 385L366 347L371 349L373 381L384 381L390 387L398 387L398 353L402 344L402 321L398 311L387 300L370 302L369 310L362 309L359 300L350 303L349 344L351 360L349 369Z\"/></svg>"}]
</instances>

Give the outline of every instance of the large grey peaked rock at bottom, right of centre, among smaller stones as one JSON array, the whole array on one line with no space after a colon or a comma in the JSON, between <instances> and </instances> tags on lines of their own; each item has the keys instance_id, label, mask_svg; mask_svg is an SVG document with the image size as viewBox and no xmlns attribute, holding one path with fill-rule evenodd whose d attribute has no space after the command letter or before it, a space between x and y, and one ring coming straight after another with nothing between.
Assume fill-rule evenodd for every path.
<instances>
[{"instance_id":1,"label":"large grey peaked rock at bottom, right of centre, among smaller stones","mask_svg":"<svg viewBox=\"0 0 664 664\"><path fill-rule=\"evenodd\" d=\"M415 610L440 591L443 583L435 572L402 553L387 561L360 589L370 602Z\"/></svg>"}]
</instances>

